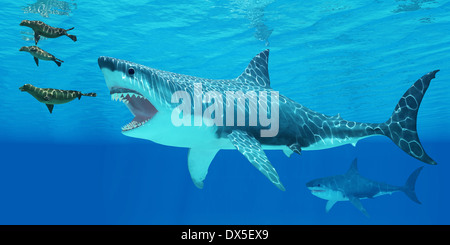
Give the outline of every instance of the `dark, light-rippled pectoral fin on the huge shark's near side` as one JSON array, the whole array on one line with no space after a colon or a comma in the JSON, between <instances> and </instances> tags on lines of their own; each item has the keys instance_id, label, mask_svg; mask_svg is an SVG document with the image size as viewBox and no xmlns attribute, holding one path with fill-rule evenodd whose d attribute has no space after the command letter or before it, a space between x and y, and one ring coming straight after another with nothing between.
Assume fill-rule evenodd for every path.
<instances>
[{"instance_id":1,"label":"dark, light-rippled pectoral fin on the huge shark's near side","mask_svg":"<svg viewBox=\"0 0 450 245\"><path fill-rule=\"evenodd\" d=\"M267 159L266 154L261 148L261 144L255 137L242 130L233 130L228 135L231 143L239 152L249 160L262 174L264 174L280 190L286 190L280 182L277 171Z\"/></svg>"}]
</instances>

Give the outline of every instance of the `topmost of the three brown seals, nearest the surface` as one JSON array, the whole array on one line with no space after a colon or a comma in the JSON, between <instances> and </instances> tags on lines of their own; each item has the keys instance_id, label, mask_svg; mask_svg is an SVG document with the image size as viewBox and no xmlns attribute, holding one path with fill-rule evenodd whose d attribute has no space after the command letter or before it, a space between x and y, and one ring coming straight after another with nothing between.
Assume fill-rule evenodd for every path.
<instances>
[{"instance_id":1,"label":"topmost of the three brown seals, nearest the surface","mask_svg":"<svg viewBox=\"0 0 450 245\"><path fill-rule=\"evenodd\" d=\"M73 30L75 27L72 27L70 29L63 29L58 27L52 27L47 24L45 24L42 21L38 20L22 20L20 22L21 26L28 26L34 31L34 42L37 45L39 42L39 39L41 36L48 37L48 38L57 38L60 36L68 36L70 39L72 39L74 42L77 41L77 37L74 35L67 34L68 31Z\"/></svg>"}]
</instances>

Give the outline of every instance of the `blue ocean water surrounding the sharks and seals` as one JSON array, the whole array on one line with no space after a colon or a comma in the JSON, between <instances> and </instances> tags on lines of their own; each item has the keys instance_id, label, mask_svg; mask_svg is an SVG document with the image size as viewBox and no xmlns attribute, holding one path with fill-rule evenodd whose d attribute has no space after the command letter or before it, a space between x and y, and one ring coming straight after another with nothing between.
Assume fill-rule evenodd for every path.
<instances>
[{"instance_id":1,"label":"blue ocean water surrounding the sharks and seals","mask_svg":"<svg viewBox=\"0 0 450 245\"><path fill-rule=\"evenodd\" d=\"M450 1L2 1L0 27L0 224L449 224ZM38 46L57 67L19 52L34 45L24 20L75 27ZM438 163L416 193L349 202L329 213L305 183L345 173L358 158L370 179L403 185L425 164L389 139L356 147L267 151L282 192L238 152L222 150L204 189L187 169L187 149L128 138L132 119L110 99L97 58L130 60L193 76L230 79L270 49L271 86L304 106L362 122L385 121L422 75L441 71L424 97L418 132ZM19 91L38 87L96 92L53 113Z\"/></svg>"}]
</instances>

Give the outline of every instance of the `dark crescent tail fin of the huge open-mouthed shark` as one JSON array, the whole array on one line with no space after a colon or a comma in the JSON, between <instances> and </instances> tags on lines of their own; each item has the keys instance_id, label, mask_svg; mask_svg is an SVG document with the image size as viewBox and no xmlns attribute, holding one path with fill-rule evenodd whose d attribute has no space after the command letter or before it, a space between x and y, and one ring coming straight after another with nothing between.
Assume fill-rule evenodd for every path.
<instances>
[{"instance_id":1,"label":"dark crescent tail fin of the huge open-mouthed shark","mask_svg":"<svg viewBox=\"0 0 450 245\"><path fill-rule=\"evenodd\" d=\"M398 102L391 118L382 124L381 131L400 149L428 164L436 162L425 153L417 134L417 113L431 80L439 70L432 71L417 80Z\"/></svg>"}]
</instances>

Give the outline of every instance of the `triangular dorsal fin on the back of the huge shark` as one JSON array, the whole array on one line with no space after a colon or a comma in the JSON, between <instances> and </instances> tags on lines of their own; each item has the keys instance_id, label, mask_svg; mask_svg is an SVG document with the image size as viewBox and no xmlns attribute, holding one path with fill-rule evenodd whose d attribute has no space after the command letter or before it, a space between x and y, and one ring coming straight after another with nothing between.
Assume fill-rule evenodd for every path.
<instances>
[{"instance_id":1,"label":"triangular dorsal fin on the back of the huge shark","mask_svg":"<svg viewBox=\"0 0 450 245\"><path fill-rule=\"evenodd\" d=\"M252 86L270 88L268 64L269 50L266 49L250 61L245 71L236 80Z\"/></svg>"}]
</instances>

